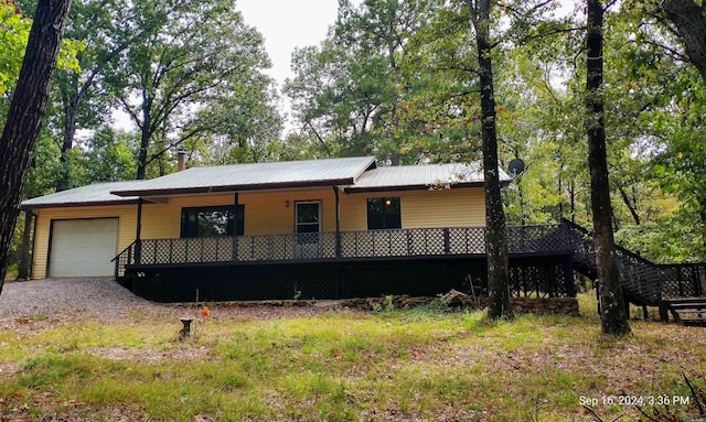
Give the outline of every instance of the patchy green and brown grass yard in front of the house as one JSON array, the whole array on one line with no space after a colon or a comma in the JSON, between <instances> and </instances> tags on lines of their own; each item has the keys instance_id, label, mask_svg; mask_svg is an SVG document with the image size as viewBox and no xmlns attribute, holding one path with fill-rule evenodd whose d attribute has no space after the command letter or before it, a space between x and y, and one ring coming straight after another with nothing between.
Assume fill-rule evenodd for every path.
<instances>
[{"instance_id":1,"label":"patchy green and brown grass yard in front of the house","mask_svg":"<svg viewBox=\"0 0 706 422\"><path fill-rule=\"evenodd\" d=\"M682 372L706 387L704 328L632 321L632 336L607 338L591 297L581 306L498 324L434 307L249 318L213 306L186 342L171 314L40 316L0 329L0 421L589 421L589 399L605 420L638 420L603 399L688 398ZM644 408L697 414L693 398Z\"/></svg>"}]
</instances>

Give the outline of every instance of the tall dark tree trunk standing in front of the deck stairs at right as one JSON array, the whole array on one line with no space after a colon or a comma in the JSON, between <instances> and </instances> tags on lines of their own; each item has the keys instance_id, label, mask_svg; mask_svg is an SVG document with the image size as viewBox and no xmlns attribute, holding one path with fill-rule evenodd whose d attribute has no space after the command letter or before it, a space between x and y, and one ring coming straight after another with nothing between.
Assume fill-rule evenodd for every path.
<instances>
[{"instance_id":1,"label":"tall dark tree trunk standing in front of the deck stairs at right","mask_svg":"<svg viewBox=\"0 0 706 422\"><path fill-rule=\"evenodd\" d=\"M603 119L603 9L600 0L588 1L587 36L587 119L588 167L591 178L593 241L600 285L600 322L603 334L630 334L628 313L620 285L620 267L616 256L612 209L608 182L606 127Z\"/></svg>"}]
</instances>

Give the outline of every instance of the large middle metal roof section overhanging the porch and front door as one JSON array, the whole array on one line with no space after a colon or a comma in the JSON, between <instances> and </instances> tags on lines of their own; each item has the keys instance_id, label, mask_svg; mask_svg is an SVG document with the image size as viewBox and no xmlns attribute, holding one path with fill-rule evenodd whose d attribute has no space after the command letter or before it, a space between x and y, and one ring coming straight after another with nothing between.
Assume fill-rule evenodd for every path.
<instances>
[{"instance_id":1,"label":"large middle metal roof section overhanging the porch and front door","mask_svg":"<svg viewBox=\"0 0 706 422\"><path fill-rule=\"evenodd\" d=\"M349 185L368 169L374 156L275 161L192 167L116 188L119 196L154 196L264 188Z\"/></svg>"}]
</instances>

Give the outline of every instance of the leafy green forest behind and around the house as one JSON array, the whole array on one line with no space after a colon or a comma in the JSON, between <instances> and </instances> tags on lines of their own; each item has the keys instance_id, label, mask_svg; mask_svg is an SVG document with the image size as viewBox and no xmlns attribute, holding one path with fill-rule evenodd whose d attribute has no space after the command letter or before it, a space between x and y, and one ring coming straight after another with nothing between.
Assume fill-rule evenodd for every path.
<instances>
[{"instance_id":1,"label":"leafy green forest behind and around the house","mask_svg":"<svg viewBox=\"0 0 706 422\"><path fill-rule=\"evenodd\" d=\"M671 3L704 13L699 2ZM706 261L698 57L662 2L605 7L617 240L655 262ZM34 8L0 0L0 127ZM327 39L293 52L295 76L277 91L263 37L233 0L75 0L24 195L168 174L180 148L191 166L361 154L381 165L480 161L468 13L460 0L340 0ZM501 166L527 164L503 191L507 224L590 227L585 4L500 1L491 18ZM136 129L117 127L115 110ZM18 224L15 267L31 227Z\"/></svg>"}]
</instances>

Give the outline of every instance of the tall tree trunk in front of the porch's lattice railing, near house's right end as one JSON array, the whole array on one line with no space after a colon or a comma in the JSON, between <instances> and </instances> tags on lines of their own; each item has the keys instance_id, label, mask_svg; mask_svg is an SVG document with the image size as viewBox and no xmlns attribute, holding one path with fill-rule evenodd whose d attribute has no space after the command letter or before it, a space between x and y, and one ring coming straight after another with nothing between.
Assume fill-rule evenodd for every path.
<instances>
[{"instance_id":1,"label":"tall tree trunk in front of the porch's lattice railing, near house's right end","mask_svg":"<svg viewBox=\"0 0 706 422\"><path fill-rule=\"evenodd\" d=\"M473 4L468 0L480 68L481 138L483 141L483 176L485 190L485 246L488 253L488 317L512 318L510 305L510 263L505 235L505 212L500 193L498 169L498 132L495 127L495 96L493 91L493 63L490 43L490 0Z\"/></svg>"}]
</instances>

